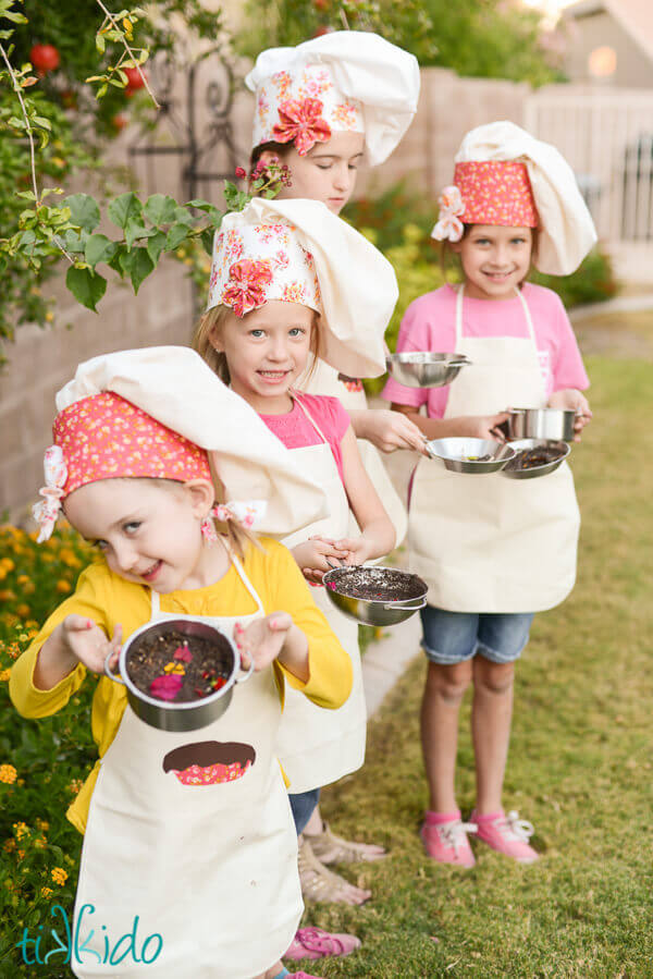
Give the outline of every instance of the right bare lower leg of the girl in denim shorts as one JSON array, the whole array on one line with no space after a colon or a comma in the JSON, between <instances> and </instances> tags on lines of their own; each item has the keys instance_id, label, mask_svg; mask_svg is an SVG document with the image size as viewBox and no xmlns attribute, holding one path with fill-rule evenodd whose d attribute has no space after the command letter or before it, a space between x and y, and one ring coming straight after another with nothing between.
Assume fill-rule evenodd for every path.
<instances>
[{"instance_id":1,"label":"right bare lower leg of the girl in denim shorts","mask_svg":"<svg viewBox=\"0 0 653 979\"><path fill-rule=\"evenodd\" d=\"M498 812L503 788L510 722L513 718L514 663L493 663L482 656L473 659L473 702L471 733L476 757L479 816Z\"/></svg>"}]
</instances>

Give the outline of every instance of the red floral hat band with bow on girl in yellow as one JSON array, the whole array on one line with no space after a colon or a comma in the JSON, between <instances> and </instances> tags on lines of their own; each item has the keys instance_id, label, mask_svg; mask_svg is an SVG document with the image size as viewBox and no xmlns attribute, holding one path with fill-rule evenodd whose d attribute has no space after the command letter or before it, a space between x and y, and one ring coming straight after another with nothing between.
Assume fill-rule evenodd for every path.
<instances>
[{"instance_id":1,"label":"red floral hat band with bow on girl in yellow","mask_svg":"<svg viewBox=\"0 0 653 979\"><path fill-rule=\"evenodd\" d=\"M123 477L211 479L209 457L111 391L83 397L59 413L46 451L44 500L34 507L39 541L50 537L62 500L87 482Z\"/></svg>"}]
</instances>

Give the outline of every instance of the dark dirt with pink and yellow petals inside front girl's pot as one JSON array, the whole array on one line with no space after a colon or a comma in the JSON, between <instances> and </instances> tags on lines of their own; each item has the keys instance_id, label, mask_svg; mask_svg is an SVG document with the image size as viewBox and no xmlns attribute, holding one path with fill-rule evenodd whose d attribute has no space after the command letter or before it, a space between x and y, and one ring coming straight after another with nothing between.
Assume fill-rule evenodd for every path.
<instances>
[{"instance_id":1,"label":"dark dirt with pink and yellow petals inside front girl's pot","mask_svg":"<svg viewBox=\"0 0 653 979\"><path fill-rule=\"evenodd\" d=\"M222 689L231 675L229 641L188 636L171 628L144 633L130 647L126 670L132 683L148 697L174 703L201 700Z\"/></svg>"}]
</instances>

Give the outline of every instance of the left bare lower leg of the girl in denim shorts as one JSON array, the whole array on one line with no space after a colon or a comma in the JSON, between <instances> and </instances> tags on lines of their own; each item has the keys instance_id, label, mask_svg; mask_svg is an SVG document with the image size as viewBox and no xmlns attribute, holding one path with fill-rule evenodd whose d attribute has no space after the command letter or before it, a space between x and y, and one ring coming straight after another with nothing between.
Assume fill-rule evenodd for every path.
<instances>
[{"instance_id":1,"label":"left bare lower leg of the girl in denim shorts","mask_svg":"<svg viewBox=\"0 0 653 979\"><path fill-rule=\"evenodd\" d=\"M454 790L458 713L471 681L471 662L429 662L421 706L421 738L430 803L434 812L457 810Z\"/></svg>"}]
</instances>

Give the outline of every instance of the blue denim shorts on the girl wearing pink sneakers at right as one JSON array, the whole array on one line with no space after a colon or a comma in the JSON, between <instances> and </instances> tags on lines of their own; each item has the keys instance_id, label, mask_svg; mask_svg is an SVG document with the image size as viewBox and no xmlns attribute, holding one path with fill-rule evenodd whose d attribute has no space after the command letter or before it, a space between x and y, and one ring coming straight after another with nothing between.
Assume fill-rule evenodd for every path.
<instances>
[{"instance_id":1,"label":"blue denim shorts on the girl wearing pink sneakers at right","mask_svg":"<svg viewBox=\"0 0 653 979\"><path fill-rule=\"evenodd\" d=\"M422 649L432 663L449 665L480 653L493 663L512 663L528 643L532 612L446 612L427 605Z\"/></svg>"}]
</instances>

